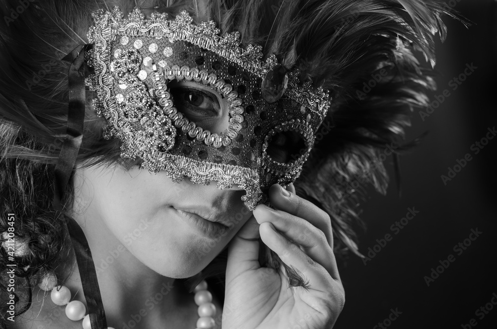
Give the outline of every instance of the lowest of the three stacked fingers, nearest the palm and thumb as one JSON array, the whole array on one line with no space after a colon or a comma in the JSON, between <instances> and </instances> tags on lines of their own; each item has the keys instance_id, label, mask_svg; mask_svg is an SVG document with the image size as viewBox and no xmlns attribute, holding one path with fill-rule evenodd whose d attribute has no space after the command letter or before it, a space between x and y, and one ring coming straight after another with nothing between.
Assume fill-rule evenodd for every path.
<instances>
[{"instance_id":1,"label":"lowest of the three stacked fingers, nearest the palm and thumb","mask_svg":"<svg viewBox=\"0 0 497 329\"><path fill-rule=\"evenodd\" d=\"M315 262L297 245L276 232L274 226L264 222L259 226L260 239L271 250L276 252L286 265L294 267L310 282L310 288L322 292L330 291L333 279L330 273L319 263Z\"/></svg>"}]
</instances>

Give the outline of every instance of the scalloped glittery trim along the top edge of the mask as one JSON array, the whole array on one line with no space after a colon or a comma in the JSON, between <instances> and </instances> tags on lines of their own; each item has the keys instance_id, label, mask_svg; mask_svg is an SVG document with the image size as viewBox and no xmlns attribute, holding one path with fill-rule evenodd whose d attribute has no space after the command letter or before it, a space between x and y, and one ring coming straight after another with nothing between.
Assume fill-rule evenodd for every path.
<instances>
[{"instance_id":1,"label":"scalloped glittery trim along the top edge of the mask","mask_svg":"<svg viewBox=\"0 0 497 329\"><path fill-rule=\"evenodd\" d=\"M152 13L150 20L145 20L145 15L138 7L134 8L127 18L124 18L124 14L117 6L111 13L99 10L92 15L97 24L90 28L89 35L93 35L101 27L108 26L111 21L112 28L116 31L135 29L141 33L147 32L154 37L166 37L171 43L178 40L190 42L240 65L260 78L263 78L278 63L274 54L263 62L260 45L248 45L247 49L239 47L241 41L238 31L219 36L220 30L216 28L214 21L195 25L193 18L184 10L174 20L167 20L167 14L157 12ZM108 27L107 30L110 33ZM99 40L90 41L98 42ZM166 53L165 55L167 56ZM301 87L294 78L295 76L295 74L290 74L289 84L293 88L289 90L287 96L297 101L301 100L299 102L302 104L308 104L310 109L319 112L324 118L330 106L328 91L323 88L313 89L310 82L304 83Z\"/></svg>"}]
</instances>

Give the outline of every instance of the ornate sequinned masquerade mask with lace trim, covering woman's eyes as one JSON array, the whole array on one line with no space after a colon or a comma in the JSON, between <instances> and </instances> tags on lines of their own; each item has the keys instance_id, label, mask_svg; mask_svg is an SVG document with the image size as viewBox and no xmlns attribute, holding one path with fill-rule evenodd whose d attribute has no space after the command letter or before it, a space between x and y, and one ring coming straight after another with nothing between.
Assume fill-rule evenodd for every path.
<instances>
[{"instance_id":1,"label":"ornate sequinned masquerade mask with lace trim, covering woman's eyes","mask_svg":"<svg viewBox=\"0 0 497 329\"><path fill-rule=\"evenodd\" d=\"M93 18L86 84L122 158L175 182L238 184L250 210L270 185L299 176L329 107L323 89L301 85L274 55L261 61L260 46L240 48L238 32L194 25L186 11L145 19L135 8L125 19L116 7Z\"/></svg>"}]
</instances>

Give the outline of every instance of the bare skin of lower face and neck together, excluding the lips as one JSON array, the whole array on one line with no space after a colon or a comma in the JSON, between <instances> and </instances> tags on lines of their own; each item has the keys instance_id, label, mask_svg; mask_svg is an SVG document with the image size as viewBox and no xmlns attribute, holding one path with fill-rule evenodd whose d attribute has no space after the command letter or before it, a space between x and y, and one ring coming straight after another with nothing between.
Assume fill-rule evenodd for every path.
<instances>
[{"instance_id":1,"label":"bare skin of lower face and neck together, excluding the lips","mask_svg":"<svg viewBox=\"0 0 497 329\"><path fill-rule=\"evenodd\" d=\"M82 169L75 184L80 186L77 209L82 214L75 219L83 227L95 263L102 269L97 270L97 277L109 326L122 328L118 326L120 319L131 320L130 315L140 309L150 314L140 323L143 327L135 328L157 327L174 317L179 324L188 319L194 325L198 315L193 295L174 278L193 276L205 268L245 221L208 237L194 230L174 208L196 210L204 218L229 219L244 209L249 214L241 201L245 192L220 190L215 182L197 185L187 178L177 184L164 172L153 175L138 168L128 172L120 168ZM124 251L112 256L112 264L103 269L111 251L119 250L120 245ZM164 285L173 289L161 297L162 307L150 310L150 298ZM217 306L221 314L221 305Z\"/></svg>"}]
</instances>

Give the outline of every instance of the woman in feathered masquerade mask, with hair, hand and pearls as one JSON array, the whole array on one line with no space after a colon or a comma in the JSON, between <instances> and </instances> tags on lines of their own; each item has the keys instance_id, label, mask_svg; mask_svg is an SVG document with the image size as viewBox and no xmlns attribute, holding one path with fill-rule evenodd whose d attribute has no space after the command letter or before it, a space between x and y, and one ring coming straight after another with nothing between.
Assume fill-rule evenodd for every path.
<instances>
[{"instance_id":1,"label":"woman in feathered masquerade mask, with hair, hand and pearls","mask_svg":"<svg viewBox=\"0 0 497 329\"><path fill-rule=\"evenodd\" d=\"M3 326L333 327L442 4L2 1Z\"/></svg>"}]
</instances>

